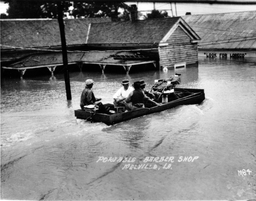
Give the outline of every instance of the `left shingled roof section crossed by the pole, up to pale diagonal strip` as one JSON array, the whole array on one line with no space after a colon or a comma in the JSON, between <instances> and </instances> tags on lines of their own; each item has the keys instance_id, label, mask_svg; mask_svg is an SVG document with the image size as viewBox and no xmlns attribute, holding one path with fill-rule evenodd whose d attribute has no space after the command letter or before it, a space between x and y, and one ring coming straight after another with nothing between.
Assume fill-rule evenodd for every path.
<instances>
[{"instance_id":1,"label":"left shingled roof section crossed by the pole, up to pale diagonal strip","mask_svg":"<svg viewBox=\"0 0 256 201\"><path fill-rule=\"evenodd\" d=\"M89 23L109 22L111 18L64 19L67 45L86 43ZM1 19L1 45L14 47L61 46L57 19ZM1 46L1 50L10 49Z\"/></svg>"}]
</instances>

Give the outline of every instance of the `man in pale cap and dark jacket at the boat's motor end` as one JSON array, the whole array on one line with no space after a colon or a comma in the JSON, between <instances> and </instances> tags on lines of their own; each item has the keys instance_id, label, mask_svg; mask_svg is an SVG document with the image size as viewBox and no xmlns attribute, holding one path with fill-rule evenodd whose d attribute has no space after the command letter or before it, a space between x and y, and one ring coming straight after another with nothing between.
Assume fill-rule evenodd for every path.
<instances>
[{"instance_id":1,"label":"man in pale cap and dark jacket at the boat's motor end","mask_svg":"<svg viewBox=\"0 0 256 201\"><path fill-rule=\"evenodd\" d=\"M110 108L105 108L104 105L101 103L101 98L96 98L94 96L94 93L92 91L94 81L92 79L87 79L85 81L85 89L82 92L81 98L80 98L80 107L81 109L84 109L84 106L87 105L96 105L96 108L98 108L99 113L107 113L109 112Z\"/></svg>"}]
</instances>

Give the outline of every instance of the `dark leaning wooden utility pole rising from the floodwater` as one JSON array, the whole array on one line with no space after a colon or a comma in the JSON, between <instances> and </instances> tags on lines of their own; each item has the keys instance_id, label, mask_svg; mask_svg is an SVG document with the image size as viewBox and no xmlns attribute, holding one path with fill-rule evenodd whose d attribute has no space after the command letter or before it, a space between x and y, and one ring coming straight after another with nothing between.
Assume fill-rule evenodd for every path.
<instances>
[{"instance_id":1,"label":"dark leaning wooden utility pole rising from the floodwater","mask_svg":"<svg viewBox=\"0 0 256 201\"><path fill-rule=\"evenodd\" d=\"M63 2L64 3L64 2ZM70 80L69 80L69 70L68 70L68 53L65 37L65 25L63 22L63 4L62 2L57 3L58 6L58 21L61 32L61 47L62 47L62 59L63 59L63 69L64 69L64 79L66 86L67 100L71 100L71 89L70 89Z\"/></svg>"}]
</instances>

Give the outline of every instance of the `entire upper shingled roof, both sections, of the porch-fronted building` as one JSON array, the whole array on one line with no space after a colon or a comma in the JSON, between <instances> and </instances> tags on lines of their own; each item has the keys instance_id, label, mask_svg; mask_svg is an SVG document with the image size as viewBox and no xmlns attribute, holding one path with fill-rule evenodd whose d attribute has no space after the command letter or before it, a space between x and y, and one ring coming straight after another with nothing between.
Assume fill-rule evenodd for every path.
<instances>
[{"instance_id":1,"label":"entire upper shingled roof, both sections, of the porch-fronted building","mask_svg":"<svg viewBox=\"0 0 256 201\"><path fill-rule=\"evenodd\" d=\"M98 23L99 21L105 23ZM84 44L159 44L179 26L193 40L198 35L181 17L109 22L110 18L65 19L68 46ZM1 20L1 45L21 48L61 46L57 19ZM1 46L1 50L10 49Z\"/></svg>"}]
</instances>

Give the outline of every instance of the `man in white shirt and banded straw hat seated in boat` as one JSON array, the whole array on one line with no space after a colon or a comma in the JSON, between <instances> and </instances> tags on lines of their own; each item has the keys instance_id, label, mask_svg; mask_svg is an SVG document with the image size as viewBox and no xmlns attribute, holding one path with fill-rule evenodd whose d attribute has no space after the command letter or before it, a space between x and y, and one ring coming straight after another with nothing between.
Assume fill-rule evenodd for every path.
<instances>
[{"instance_id":1,"label":"man in white shirt and banded straw hat seated in boat","mask_svg":"<svg viewBox=\"0 0 256 201\"><path fill-rule=\"evenodd\" d=\"M128 79L124 79L122 81L122 87L120 89L118 89L118 91L115 93L115 95L113 95L113 103L114 103L114 107L116 108L117 106L125 106L125 99L126 97L129 95L129 93L131 93L134 88L132 86L129 86L129 80Z\"/></svg>"}]
</instances>

